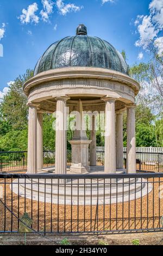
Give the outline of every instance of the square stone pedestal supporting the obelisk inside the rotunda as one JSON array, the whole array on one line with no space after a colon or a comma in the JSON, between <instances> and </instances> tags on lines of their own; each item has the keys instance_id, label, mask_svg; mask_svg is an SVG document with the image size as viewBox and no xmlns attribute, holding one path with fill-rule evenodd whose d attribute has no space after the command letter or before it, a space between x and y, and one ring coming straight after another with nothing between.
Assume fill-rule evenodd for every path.
<instances>
[{"instance_id":1,"label":"square stone pedestal supporting the obelisk inside the rotunda","mask_svg":"<svg viewBox=\"0 0 163 256\"><path fill-rule=\"evenodd\" d=\"M89 140L70 141L72 146L72 166L70 167L73 173L90 172L89 166Z\"/></svg>"}]
</instances>

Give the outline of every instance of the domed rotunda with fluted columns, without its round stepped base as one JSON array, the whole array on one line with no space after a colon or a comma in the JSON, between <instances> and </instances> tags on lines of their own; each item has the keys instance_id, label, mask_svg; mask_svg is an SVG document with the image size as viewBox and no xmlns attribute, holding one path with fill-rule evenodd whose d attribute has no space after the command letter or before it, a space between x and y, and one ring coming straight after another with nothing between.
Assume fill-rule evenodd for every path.
<instances>
[{"instance_id":1,"label":"domed rotunda with fluted columns, without its round stepped base","mask_svg":"<svg viewBox=\"0 0 163 256\"><path fill-rule=\"evenodd\" d=\"M54 42L24 84L28 97L28 173L43 168L42 114L56 112L55 174L66 174L67 108L91 111L91 139L78 129L72 145L73 173L88 173L96 166L96 113L105 113L104 173L123 170L123 112L127 110L127 173L135 167L135 96L140 86L128 74L128 65L109 42L87 35L79 25L75 36ZM90 145L90 164L89 164Z\"/></svg>"}]
</instances>

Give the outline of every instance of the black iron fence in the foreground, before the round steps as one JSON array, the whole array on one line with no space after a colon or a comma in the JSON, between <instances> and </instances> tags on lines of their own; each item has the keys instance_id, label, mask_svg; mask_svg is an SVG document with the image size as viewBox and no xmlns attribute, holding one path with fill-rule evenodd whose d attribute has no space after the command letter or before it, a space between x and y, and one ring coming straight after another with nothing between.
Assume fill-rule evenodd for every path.
<instances>
[{"instance_id":1,"label":"black iron fence in the foreground, before the round steps","mask_svg":"<svg viewBox=\"0 0 163 256\"><path fill-rule=\"evenodd\" d=\"M163 231L162 186L161 173L0 174L0 233Z\"/></svg>"}]
</instances>

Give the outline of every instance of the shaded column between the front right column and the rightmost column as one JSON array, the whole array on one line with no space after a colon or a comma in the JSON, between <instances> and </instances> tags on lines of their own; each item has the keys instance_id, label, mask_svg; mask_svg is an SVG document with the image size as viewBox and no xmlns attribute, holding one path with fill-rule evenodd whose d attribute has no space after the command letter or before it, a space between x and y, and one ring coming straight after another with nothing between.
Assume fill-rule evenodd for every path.
<instances>
[{"instance_id":1,"label":"shaded column between the front right column and the rightmost column","mask_svg":"<svg viewBox=\"0 0 163 256\"><path fill-rule=\"evenodd\" d=\"M116 169L123 169L123 112L116 112Z\"/></svg>"}]
</instances>

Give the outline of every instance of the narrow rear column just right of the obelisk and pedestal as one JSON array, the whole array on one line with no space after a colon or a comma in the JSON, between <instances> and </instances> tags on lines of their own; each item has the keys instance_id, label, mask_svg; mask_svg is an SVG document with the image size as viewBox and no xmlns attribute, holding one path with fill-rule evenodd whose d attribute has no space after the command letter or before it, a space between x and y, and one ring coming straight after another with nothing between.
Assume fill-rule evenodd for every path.
<instances>
[{"instance_id":1,"label":"narrow rear column just right of the obelisk and pedestal","mask_svg":"<svg viewBox=\"0 0 163 256\"><path fill-rule=\"evenodd\" d=\"M92 115L90 166L96 166L96 117Z\"/></svg>"}]
</instances>

